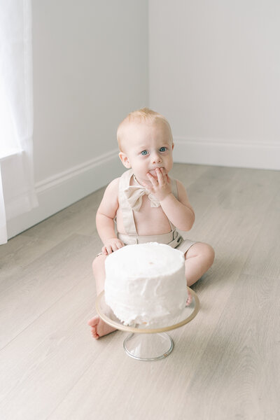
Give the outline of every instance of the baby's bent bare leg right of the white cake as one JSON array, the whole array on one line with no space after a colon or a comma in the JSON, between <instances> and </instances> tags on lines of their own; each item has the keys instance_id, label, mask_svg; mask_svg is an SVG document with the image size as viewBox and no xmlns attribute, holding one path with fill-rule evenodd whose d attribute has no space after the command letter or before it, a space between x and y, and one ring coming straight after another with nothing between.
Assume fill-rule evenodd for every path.
<instances>
[{"instance_id":1,"label":"baby's bent bare leg right of the white cake","mask_svg":"<svg viewBox=\"0 0 280 420\"><path fill-rule=\"evenodd\" d=\"M185 273L189 287L207 272L214 262L214 257L214 249L203 242L197 242L188 249L185 254Z\"/></svg>"}]
</instances>

